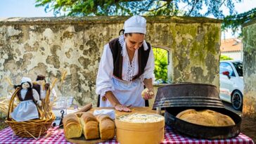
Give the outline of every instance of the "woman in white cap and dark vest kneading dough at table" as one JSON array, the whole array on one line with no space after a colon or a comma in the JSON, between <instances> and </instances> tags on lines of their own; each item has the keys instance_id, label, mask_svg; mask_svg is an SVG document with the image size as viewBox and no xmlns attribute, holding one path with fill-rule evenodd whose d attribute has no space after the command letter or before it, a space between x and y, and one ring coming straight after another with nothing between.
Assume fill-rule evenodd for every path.
<instances>
[{"instance_id":1,"label":"woman in white cap and dark vest kneading dough at table","mask_svg":"<svg viewBox=\"0 0 256 144\"><path fill-rule=\"evenodd\" d=\"M129 106L143 107L145 100L153 98L155 63L151 45L144 40L146 19L132 16L124 22L123 31L124 35L104 46L96 93L100 107L130 112Z\"/></svg>"}]
</instances>

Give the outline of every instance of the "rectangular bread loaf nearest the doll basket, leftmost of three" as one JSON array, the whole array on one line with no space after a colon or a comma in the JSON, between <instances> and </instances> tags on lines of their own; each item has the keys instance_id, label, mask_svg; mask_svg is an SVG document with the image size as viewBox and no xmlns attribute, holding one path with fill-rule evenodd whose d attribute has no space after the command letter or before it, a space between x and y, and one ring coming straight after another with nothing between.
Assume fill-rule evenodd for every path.
<instances>
[{"instance_id":1,"label":"rectangular bread loaf nearest the doll basket, leftmost of three","mask_svg":"<svg viewBox=\"0 0 256 144\"><path fill-rule=\"evenodd\" d=\"M64 133L66 138L82 136L82 126L76 114L67 114L63 117Z\"/></svg>"}]
</instances>

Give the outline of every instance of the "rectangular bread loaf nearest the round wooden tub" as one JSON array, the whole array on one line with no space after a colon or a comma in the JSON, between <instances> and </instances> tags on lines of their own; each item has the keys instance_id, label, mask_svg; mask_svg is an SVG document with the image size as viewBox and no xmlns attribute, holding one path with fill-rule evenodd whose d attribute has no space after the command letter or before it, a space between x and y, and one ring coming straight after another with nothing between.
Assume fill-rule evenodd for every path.
<instances>
[{"instance_id":1,"label":"rectangular bread loaf nearest the round wooden tub","mask_svg":"<svg viewBox=\"0 0 256 144\"><path fill-rule=\"evenodd\" d=\"M110 140L115 136L115 123L107 114L100 114L97 117L102 140Z\"/></svg>"}]
</instances>

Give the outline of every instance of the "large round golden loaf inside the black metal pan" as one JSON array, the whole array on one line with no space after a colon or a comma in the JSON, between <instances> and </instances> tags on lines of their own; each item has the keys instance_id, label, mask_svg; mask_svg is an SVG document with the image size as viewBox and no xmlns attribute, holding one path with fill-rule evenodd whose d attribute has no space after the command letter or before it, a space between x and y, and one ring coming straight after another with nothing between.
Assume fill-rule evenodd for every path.
<instances>
[{"instance_id":1,"label":"large round golden loaf inside the black metal pan","mask_svg":"<svg viewBox=\"0 0 256 144\"><path fill-rule=\"evenodd\" d=\"M233 126L235 122L231 117L215 112L213 110L200 110L193 109L184 110L179 112L176 116L186 122L199 124L202 126Z\"/></svg>"}]
</instances>

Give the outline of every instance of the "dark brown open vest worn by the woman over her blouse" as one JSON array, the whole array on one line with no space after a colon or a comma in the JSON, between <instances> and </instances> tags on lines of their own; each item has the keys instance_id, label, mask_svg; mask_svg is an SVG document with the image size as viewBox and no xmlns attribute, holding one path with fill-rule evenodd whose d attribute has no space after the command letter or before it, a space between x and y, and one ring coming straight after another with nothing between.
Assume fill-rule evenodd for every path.
<instances>
[{"instance_id":1,"label":"dark brown open vest worn by the woman over her blouse","mask_svg":"<svg viewBox=\"0 0 256 144\"><path fill-rule=\"evenodd\" d=\"M139 73L134 77L134 79L140 77L141 74L143 74L144 69L148 63L148 56L149 52L151 51L151 45L148 42L146 42L146 44L148 45L148 50L144 51L143 45L138 50ZM118 38L110 41L109 46L113 55L113 75L119 79L122 79L122 46L120 45Z\"/></svg>"}]
</instances>

